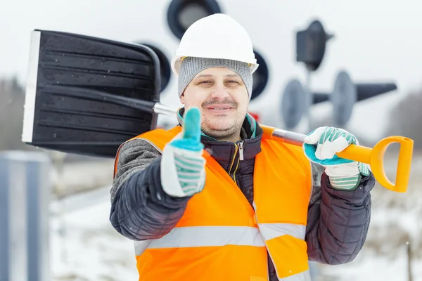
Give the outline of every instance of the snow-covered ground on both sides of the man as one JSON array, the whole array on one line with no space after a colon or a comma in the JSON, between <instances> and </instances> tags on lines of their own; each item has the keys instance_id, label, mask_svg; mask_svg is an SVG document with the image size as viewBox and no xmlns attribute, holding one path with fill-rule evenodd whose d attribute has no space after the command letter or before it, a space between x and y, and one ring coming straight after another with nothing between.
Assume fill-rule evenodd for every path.
<instances>
[{"instance_id":1,"label":"snow-covered ground on both sides of the man","mask_svg":"<svg viewBox=\"0 0 422 281\"><path fill-rule=\"evenodd\" d=\"M416 159L409 190L399 194L376 186L373 213L364 249L355 261L342 266L319 266L315 281L407 281L407 245L411 242L413 281L422 281L422 157ZM133 243L120 236L108 221L108 188L52 204L52 280L138 280ZM63 224L64 222L64 224ZM60 230L65 226L65 233Z\"/></svg>"}]
</instances>

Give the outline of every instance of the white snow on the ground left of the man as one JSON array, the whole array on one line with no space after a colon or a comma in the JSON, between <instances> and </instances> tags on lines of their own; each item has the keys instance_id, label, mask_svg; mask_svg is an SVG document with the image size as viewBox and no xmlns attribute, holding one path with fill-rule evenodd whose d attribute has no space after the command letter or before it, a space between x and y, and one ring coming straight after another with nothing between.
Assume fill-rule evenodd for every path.
<instances>
[{"instance_id":1,"label":"white snow on the ground left of the man","mask_svg":"<svg viewBox=\"0 0 422 281\"><path fill-rule=\"evenodd\" d=\"M52 280L138 280L133 242L110 225L108 198L69 209L63 220L59 216L51 219ZM65 235L60 231L63 221Z\"/></svg>"}]
</instances>

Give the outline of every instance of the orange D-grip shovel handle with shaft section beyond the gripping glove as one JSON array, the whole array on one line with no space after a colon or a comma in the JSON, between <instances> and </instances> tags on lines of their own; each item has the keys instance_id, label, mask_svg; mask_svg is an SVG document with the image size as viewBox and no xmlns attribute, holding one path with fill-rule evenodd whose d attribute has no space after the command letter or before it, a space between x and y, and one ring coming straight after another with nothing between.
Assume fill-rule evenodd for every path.
<instances>
[{"instance_id":1,"label":"orange D-grip shovel handle with shaft section beyond the gripping glove","mask_svg":"<svg viewBox=\"0 0 422 281\"><path fill-rule=\"evenodd\" d=\"M303 145L305 135L301 133L294 133L281 129L276 129L271 126L261 125L264 130L263 138L269 138L274 141L282 141L283 143L290 143L293 145ZM397 173L395 183L388 180L384 170L384 155L388 146L392 143L400 144L399 158L397 163ZM403 136L390 136L383 138L373 148L367 148L362 145L349 145L342 152L338 152L337 156L350 159L357 162L369 164L373 176L378 183L384 188L395 192L406 192L409 184L411 158L413 154L414 141Z\"/></svg>"}]
</instances>

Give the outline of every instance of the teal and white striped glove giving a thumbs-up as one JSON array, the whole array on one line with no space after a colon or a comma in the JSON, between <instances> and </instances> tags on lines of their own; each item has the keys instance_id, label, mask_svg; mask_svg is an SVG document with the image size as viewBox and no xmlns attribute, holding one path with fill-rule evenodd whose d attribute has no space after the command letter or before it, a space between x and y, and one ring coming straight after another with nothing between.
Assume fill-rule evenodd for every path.
<instances>
[{"instance_id":1,"label":"teal and white striped glove giving a thumbs-up","mask_svg":"<svg viewBox=\"0 0 422 281\"><path fill-rule=\"evenodd\" d=\"M162 189L174 197L192 196L205 185L204 145L200 143L200 111L192 107L186 111L184 126L161 157Z\"/></svg>"}]
</instances>

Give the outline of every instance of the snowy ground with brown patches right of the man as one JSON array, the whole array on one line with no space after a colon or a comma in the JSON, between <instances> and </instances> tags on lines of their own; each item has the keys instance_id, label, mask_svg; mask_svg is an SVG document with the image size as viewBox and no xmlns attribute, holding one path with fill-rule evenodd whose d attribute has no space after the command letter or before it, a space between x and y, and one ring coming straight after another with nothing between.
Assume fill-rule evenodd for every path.
<instances>
[{"instance_id":1,"label":"snowy ground with brown patches right of the man","mask_svg":"<svg viewBox=\"0 0 422 281\"><path fill-rule=\"evenodd\" d=\"M386 155L385 172L394 182L397 164ZM386 190L381 185L371 192L371 225L364 248L351 263L320 266L319 280L407 281L407 242L412 251L413 281L422 281L422 155L414 152L406 193ZM318 280L318 281L319 281Z\"/></svg>"}]
</instances>

